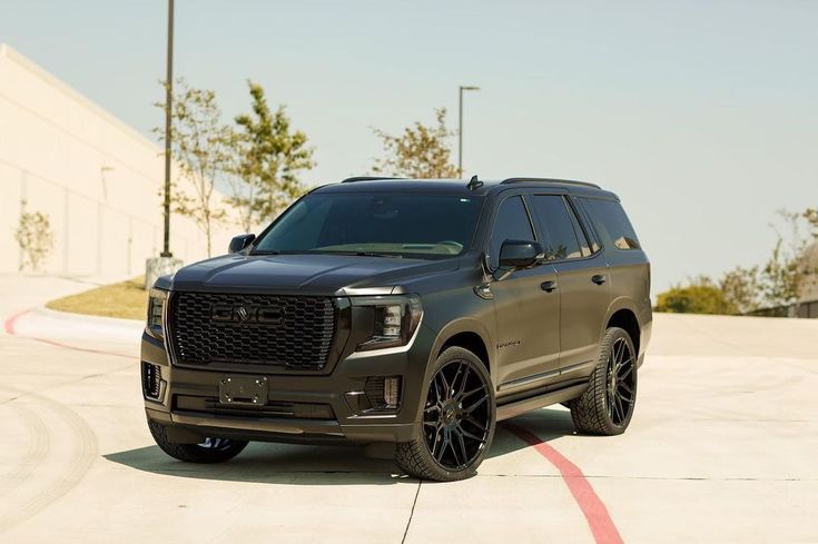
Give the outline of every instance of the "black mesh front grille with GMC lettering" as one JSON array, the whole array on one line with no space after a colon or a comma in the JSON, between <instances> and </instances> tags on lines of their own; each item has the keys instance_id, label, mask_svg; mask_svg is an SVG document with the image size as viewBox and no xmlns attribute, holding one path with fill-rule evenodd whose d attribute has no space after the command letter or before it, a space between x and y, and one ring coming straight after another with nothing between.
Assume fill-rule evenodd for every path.
<instances>
[{"instance_id":1,"label":"black mesh front grille with GMC lettering","mask_svg":"<svg viewBox=\"0 0 818 544\"><path fill-rule=\"evenodd\" d=\"M337 316L327 297L174 293L168 328L181 364L321 369Z\"/></svg>"}]
</instances>

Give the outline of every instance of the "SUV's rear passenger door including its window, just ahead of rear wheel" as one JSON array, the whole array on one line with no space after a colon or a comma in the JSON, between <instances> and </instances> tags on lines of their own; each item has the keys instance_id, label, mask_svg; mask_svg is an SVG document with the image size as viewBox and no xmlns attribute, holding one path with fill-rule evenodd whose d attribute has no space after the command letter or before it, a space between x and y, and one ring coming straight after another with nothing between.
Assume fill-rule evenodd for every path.
<instances>
[{"instance_id":1,"label":"SUV's rear passenger door including its window, just ahead of rear wheel","mask_svg":"<svg viewBox=\"0 0 818 544\"><path fill-rule=\"evenodd\" d=\"M608 263L595 236L579 220L566 194L529 197L545 257L556 270L560 291L560 372L588 374L599 353L611 299Z\"/></svg>"}]
</instances>

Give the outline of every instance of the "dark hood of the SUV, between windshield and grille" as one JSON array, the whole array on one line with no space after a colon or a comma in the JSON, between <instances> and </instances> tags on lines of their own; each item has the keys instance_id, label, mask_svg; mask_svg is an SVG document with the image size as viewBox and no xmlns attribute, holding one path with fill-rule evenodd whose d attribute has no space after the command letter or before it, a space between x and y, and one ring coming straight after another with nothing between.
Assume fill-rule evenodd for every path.
<instances>
[{"instance_id":1,"label":"dark hood of the SUV, between windshield and grille","mask_svg":"<svg viewBox=\"0 0 818 544\"><path fill-rule=\"evenodd\" d=\"M174 290L386 295L402 281L453 271L460 259L418 260L354 255L227 255L186 266Z\"/></svg>"}]
</instances>

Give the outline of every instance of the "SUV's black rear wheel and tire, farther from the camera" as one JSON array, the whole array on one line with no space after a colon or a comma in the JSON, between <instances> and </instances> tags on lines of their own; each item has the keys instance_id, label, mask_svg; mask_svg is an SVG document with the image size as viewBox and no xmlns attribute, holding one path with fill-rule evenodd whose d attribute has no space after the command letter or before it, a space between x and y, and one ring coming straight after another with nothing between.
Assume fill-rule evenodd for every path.
<instances>
[{"instance_id":1,"label":"SUV's black rear wheel and tire, farther from the camera","mask_svg":"<svg viewBox=\"0 0 818 544\"><path fill-rule=\"evenodd\" d=\"M612 376L617 375L613 379ZM568 403L576 431L592 435L620 435L633 417L637 403L637 355L630 335L619 327L605 330L591 383L579 398Z\"/></svg>"}]
</instances>

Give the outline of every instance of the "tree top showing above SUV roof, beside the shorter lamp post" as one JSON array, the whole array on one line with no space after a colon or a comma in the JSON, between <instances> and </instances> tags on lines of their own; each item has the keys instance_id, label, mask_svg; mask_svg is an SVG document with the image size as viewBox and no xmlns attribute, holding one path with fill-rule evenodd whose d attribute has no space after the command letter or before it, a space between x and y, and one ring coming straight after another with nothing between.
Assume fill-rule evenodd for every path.
<instances>
[{"instance_id":1,"label":"tree top showing above SUV roof, beside the shorter lamp post","mask_svg":"<svg viewBox=\"0 0 818 544\"><path fill-rule=\"evenodd\" d=\"M456 131L446 128L446 110L435 110L436 126L420 121L406 127L400 136L374 129L384 147L384 157L376 159L373 172L406 178L456 178L449 140Z\"/></svg>"}]
</instances>

